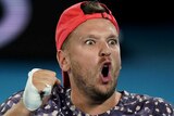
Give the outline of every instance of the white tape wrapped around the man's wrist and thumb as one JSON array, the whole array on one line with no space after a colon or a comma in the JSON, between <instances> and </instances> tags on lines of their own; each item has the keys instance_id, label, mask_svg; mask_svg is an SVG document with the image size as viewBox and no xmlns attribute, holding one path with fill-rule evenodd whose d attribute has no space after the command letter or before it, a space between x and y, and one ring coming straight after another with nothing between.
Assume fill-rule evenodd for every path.
<instances>
[{"instance_id":1,"label":"white tape wrapped around the man's wrist and thumb","mask_svg":"<svg viewBox=\"0 0 174 116\"><path fill-rule=\"evenodd\" d=\"M36 111L42 104L40 93L37 88L33 85L33 74L39 70L39 68L34 68L28 73L28 80L23 93L23 103L25 107L29 111ZM51 94L52 87L46 83L46 88L42 90L44 95Z\"/></svg>"}]
</instances>

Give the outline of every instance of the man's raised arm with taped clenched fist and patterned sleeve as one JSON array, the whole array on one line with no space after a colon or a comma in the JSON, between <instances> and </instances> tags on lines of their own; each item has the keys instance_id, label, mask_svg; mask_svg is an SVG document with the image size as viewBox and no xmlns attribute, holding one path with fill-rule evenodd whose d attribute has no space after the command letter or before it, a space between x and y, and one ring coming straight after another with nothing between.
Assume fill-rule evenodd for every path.
<instances>
[{"instance_id":1,"label":"man's raised arm with taped clenched fist and patterned sleeve","mask_svg":"<svg viewBox=\"0 0 174 116\"><path fill-rule=\"evenodd\" d=\"M57 79L54 72L46 69L29 72L24 92L9 99L4 106L0 107L0 113L5 113L4 116L14 116L15 114L17 116L29 116L32 112L48 102L55 83L60 85L60 80ZM40 95L41 92L44 92L42 95Z\"/></svg>"}]
</instances>

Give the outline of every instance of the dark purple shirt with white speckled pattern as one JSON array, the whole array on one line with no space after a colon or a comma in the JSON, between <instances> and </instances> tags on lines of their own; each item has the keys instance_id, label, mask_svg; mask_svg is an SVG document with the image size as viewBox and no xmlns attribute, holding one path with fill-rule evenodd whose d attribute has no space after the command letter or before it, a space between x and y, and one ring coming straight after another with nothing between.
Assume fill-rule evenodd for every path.
<instances>
[{"instance_id":1,"label":"dark purple shirt with white speckled pattern","mask_svg":"<svg viewBox=\"0 0 174 116\"><path fill-rule=\"evenodd\" d=\"M174 116L174 107L160 98L122 91L120 102L105 113L96 116ZM23 91L10 96L0 106L0 116L22 99ZM73 105L71 89L55 86L47 104L36 109L32 116L91 116ZM78 98L80 100L80 98Z\"/></svg>"}]
</instances>

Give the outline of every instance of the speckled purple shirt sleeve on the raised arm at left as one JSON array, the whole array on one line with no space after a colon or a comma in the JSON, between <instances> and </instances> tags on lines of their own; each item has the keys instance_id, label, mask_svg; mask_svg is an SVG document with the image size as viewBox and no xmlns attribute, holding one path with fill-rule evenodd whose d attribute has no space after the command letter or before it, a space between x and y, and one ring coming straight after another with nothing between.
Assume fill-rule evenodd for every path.
<instances>
[{"instance_id":1,"label":"speckled purple shirt sleeve on the raised arm at left","mask_svg":"<svg viewBox=\"0 0 174 116\"><path fill-rule=\"evenodd\" d=\"M0 116L7 113L7 111L10 109L13 105L17 104L22 99L22 94L23 94L23 91L14 93L4 103L2 103L0 105Z\"/></svg>"}]
</instances>

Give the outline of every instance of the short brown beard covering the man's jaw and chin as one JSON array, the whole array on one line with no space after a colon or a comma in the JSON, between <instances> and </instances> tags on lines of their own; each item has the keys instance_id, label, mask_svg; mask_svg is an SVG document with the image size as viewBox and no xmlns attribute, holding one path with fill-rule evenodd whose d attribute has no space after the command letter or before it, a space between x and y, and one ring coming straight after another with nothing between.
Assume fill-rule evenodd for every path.
<instances>
[{"instance_id":1,"label":"short brown beard covering the man's jaw and chin","mask_svg":"<svg viewBox=\"0 0 174 116\"><path fill-rule=\"evenodd\" d=\"M114 81L109 83L109 88L101 90L101 88L97 87L97 76L99 72L83 67L84 66L80 66L77 62L72 62L71 72L75 86L77 87L78 91L92 101L92 104L103 103L115 92L117 80L114 79ZM112 76L116 77L114 74L115 73L113 72Z\"/></svg>"}]
</instances>

